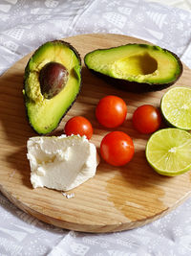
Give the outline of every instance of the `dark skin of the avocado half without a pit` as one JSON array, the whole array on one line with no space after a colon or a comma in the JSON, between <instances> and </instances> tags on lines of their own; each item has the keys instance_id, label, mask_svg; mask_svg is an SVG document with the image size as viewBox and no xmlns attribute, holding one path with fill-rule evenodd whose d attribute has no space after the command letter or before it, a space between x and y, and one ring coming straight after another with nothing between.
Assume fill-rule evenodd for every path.
<instances>
[{"instance_id":1,"label":"dark skin of the avocado half without a pit","mask_svg":"<svg viewBox=\"0 0 191 256\"><path fill-rule=\"evenodd\" d=\"M126 44L126 45L135 45L135 43ZM140 46L145 47L146 45L145 44L140 44ZM107 50L114 49L114 48L117 48L117 47L111 47L111 48L108 48ZM178 81L180 79L180 76L183 72L183 65L180 61L180 58L175 53L173 53L173 52L171 52L167 49L164 49L164 48L161 48L161 49L164 52L168 52L171 55L173 55L179 63L180 74L179 74L179 76L177 76L176 80L174 80L174 81L166 82L166 83L148 83L148 82L138 82L138 81L127 81L127 80L113 78L113 77L107 76L105 74L101 74L100 72L96 72L94 69L91 69L88 66L88 64L86 63L86 56L89 55L90 53L85 55L84 63L85 63L85 66L87 67L87 69L89 69L91 71L91 73L93 73L96 77L114 85L118 89L126 90L126 91L133 92L133 93L159 91L159 90L165 89L165 88L173 85L176 81ZM102 50L102 49L96 49L95 51L97 51L97 50ZM94 53L95 51L93 51L91 53Z\"/></svg>"}]
</instances>

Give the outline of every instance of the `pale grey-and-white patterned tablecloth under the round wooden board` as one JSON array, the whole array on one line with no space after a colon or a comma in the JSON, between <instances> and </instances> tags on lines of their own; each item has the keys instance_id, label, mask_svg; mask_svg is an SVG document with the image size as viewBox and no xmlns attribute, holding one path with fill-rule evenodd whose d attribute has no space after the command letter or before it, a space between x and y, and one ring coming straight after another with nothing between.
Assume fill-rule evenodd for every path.
<instances>
[{"instance_id":1,"label":"pale grey-and-white patterned tablecloth under the round wooden board","mask_svg":"<svg viewBox=\"0 0 191 256\"><path fill-rule=\"evenodd\" d=\"M1 0L0 73L45 41L86 33L146 39L191 67L191 12L138 0ZM38 221L0 194L0 255L191 255L191 199L143 227L100 235Z\"/></svg>"}]
</instances>

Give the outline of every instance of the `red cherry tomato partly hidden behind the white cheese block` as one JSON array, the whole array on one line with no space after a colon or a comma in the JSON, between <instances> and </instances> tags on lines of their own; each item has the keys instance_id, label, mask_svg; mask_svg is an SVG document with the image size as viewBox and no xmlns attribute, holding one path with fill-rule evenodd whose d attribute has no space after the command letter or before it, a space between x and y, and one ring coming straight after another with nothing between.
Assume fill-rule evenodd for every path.
<instances>
[{"instance_id":1,"label":"red cherry tomato partly hidden behind the white cheese block","mask_svg":"<svg viewBox=\"0 0 191 256\"><path fill-rule=\"evenodd\" d=\"M85 135L87 139L91 139L93 135L93 127L91 123L83 116L74 116L65 125L64 132L70 136L72 134L80 136Z\"/></svg>"}]
</instances>

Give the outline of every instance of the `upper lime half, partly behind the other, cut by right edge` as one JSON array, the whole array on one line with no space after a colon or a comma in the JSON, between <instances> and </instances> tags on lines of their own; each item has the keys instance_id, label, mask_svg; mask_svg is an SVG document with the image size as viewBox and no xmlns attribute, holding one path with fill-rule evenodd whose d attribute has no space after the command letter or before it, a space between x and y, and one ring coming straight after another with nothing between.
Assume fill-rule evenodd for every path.
<instances>
[{"instance_id":1,"label":"upper lime half, partly behind the other, cut by right edge","mask_svg":"<svg viewBox=\"0 0 191 256\"><path fill-rule=\"evenodd\" d=\"M191 88L173 87L161 99L161 112L176 128L191 130Z\"/></svg>"}]
</instances>

